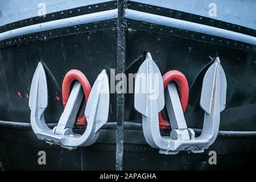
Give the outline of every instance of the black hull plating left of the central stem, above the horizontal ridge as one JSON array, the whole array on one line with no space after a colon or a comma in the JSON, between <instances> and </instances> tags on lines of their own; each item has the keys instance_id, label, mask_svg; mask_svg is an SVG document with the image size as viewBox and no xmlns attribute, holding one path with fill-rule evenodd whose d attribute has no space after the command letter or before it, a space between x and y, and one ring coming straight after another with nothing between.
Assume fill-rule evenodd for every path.
<instances>
[{"instance_id":1,"label":"black hull plating left of the central stem, above the horizontal ridge","mask_svg":"<svg viewBox=\"0 0 256 182\"><path fill-rule=\"evenodd\" d=\"M104 23L98 24L104 26ZM28 94L36 65L42 61L48 80L46 121L58 121L63 112L60 88L65 74L79 69L92 85L102 69L109 72L116 67L116 44L117 29L113 27L0 49L1 119L30 121ZM110 100L109 120L115 121L115 94L110 94Z\"/></svg>"}]
</instances>

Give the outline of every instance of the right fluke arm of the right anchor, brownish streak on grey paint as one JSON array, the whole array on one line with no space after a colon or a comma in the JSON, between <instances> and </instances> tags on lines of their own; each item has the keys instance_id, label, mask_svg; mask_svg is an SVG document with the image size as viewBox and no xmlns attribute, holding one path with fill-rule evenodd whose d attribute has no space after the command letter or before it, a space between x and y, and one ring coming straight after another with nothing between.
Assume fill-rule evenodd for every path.
<instances>
[{"instance_id":1,"label":"right fluke arm of the right anchor, brownish streak on grey paint","mask_svg":"<svg viewBox=\"0 0 256 182\"><path fill-rule=\"evenodd\" d=\"M196 139L208 139L210 146L217 138L220 112L226 106L226 76L219 57L205 73L200 106L205 111L204 125L201 135Z\"/></svg>"}]
</instances>

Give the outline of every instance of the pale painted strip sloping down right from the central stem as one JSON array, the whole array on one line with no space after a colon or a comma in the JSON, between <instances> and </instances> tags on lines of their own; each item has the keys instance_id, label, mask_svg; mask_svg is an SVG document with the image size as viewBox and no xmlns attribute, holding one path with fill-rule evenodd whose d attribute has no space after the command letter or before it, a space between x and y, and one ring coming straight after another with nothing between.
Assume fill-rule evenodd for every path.
<instances>
[{"instance_id":1,"label":"pale painted strip sloping down right from the central stem","mask_svg":"<svg viewBox=\"0 0 256 182\"><path fill-rule=\"evenodd\" d=\"M201 32L203 34L208 34L208 35L220 36L222 38L237 40L240 42L256 45L256 38L254 36L240 34L238 32L211 27L204 24L187 22L185 20L168 18L165 16L154 15L150 13L143 13L141 11L135 11L135 10L129 10L129 9L125 10L125 17L129 19L143 21L143 22L162 24L164 26Z\"/></svg>"}]
</instances>

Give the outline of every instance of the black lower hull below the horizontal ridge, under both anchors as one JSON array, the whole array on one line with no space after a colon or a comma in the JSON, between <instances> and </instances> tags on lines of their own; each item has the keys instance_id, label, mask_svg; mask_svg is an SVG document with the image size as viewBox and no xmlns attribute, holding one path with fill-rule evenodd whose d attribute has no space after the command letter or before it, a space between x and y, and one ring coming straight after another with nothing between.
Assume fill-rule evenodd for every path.
<instances>
[{"instance_id":1,"label":"black lower hull below the horizontal ridge, under both anchors","mask_svg":"<svg viewBox=\"0 0 256 182\"><path fill-rule=\"evenodd\" d=\"M111 126L113 124L109 123L102 130L97 143L73 151L59 146L49 146L38 140L31 127L17 130L15 127L1 125L0 160L5 169L114 170L116 129ZM136 125L125 123L122 169L254 169L255 135L230 138L228 135L219 134L217 141L203 154L181 152L178 155L161 155L158 150L146 144L143 132L135 130ZM37 163L38 152L41 150L47 154L46 166ZM210 150L218 154L217 166L208 163Z\"/></svg>"}]
</instances>

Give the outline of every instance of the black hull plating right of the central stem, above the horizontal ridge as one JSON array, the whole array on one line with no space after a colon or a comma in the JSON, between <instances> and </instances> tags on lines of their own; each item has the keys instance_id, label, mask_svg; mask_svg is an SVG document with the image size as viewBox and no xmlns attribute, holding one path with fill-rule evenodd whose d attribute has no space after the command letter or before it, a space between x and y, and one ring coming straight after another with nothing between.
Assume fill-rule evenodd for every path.
<instances>
[{"instance_id":1,"label":"black hull plating right of the central stem, above the horizontal ridge","mask_svg":"<svg viewBox=\"0 0 256 182\"><path fill-rule=\"evenodd\" d=\"M188 80L189 86L197 74L214 57L216 52L221 57L228 82L226 110L221 113L221 130L254 131L255 125L255 92L256 90L256 56L254 53L237 49L195 42L192 40L155 34L154 32L130 30L127 32L127 69L126 73L136 73L144 60L144 53L151 52L162 75L170 70L181 71ZM203 80L202 80L203 81ZM190 88L188 109L185 118L189 127L200 128L203 124L203 111L192 103L194 97L200 96L201 83ZM141 115L134 109L133 94L126 94L125 121L141 122ZM246 109L247 108L247 109ZM251 108L251 109L249 109Z\"/></svg>"}]
</instances>

